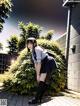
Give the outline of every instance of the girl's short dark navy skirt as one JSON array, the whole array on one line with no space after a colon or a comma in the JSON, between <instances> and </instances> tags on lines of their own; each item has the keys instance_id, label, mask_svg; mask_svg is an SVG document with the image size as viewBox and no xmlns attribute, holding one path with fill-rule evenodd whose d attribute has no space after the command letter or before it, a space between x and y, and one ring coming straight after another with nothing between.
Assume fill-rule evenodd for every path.
<instances>
[{"instance_id":1,"label":"girl's short dark navy skirt","mask_svg":"<svg viewBox=\"0 0 80 106\"><path fill-rule=\"evenodd\" d=\"M41 62L41 70L40 73L48 73L50 74L56 68L56 62L53 57L48 56L45 57Z\"/></svg>"}]
</instances>

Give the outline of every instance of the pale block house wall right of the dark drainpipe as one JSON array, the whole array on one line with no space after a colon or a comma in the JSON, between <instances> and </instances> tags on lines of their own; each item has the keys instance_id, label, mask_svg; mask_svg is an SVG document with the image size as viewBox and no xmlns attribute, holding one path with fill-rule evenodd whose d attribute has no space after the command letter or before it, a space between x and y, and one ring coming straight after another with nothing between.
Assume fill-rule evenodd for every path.
<instances>
[{"instance_id":1,"label":"pale block house wall right of the dark drainpipe","mask_svg":"<svg viewBox=\"0 0 80 106\"><path fill-rule=\"evenodd\" d=\"M68 65L68 89L80 92L80 4L72 10L69 65ZM75 53L72 52L76 46Z\"/></svg>"}]
</instances>

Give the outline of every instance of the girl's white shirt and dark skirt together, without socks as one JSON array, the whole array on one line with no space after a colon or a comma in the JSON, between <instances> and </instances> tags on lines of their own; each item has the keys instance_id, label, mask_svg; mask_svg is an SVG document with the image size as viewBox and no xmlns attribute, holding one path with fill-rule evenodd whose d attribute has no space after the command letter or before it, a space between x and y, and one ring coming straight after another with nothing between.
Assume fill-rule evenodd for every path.
<instances>
[{"instance_id":1,"label":"girl's white shirt and dark skirt together, without socks","mask_svg":"<svg viewBox=\"0 0 80 106\"><path fill-rule=\"evenodd\" d=\"M35 63L41 63L40 73L51 73L52 70L55 70L56 62L53 57L49 56L47 51L40 46L35 47L36 59L34 58L35 54L32 52L32 59Z\"/></svg>"}]
</instances>

